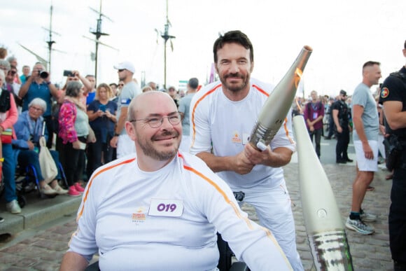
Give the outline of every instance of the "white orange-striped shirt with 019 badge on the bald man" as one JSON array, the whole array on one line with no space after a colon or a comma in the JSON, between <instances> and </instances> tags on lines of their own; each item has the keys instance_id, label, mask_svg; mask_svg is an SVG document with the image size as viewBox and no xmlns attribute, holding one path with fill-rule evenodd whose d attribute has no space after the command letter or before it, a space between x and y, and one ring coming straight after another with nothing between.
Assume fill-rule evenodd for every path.
<instances>
[{"instance_id":1,"label":"white orange-striped shirt with 019 badge on the bald man","mask_svg":"<svg viewBox=\"0 0 406 271\"><path fill-rule=\"evenodd\" d=\"M290 270L269 230L248 220L228 185L199 158L178 153L143 172L135 154L99 167L78 210L69 251L101 270L216 270L216 231L251 270Z\"/></svg>"}]
</instances>

